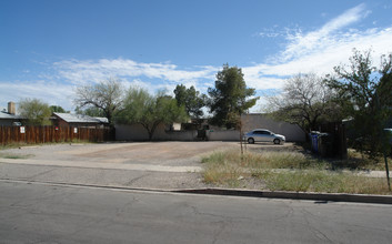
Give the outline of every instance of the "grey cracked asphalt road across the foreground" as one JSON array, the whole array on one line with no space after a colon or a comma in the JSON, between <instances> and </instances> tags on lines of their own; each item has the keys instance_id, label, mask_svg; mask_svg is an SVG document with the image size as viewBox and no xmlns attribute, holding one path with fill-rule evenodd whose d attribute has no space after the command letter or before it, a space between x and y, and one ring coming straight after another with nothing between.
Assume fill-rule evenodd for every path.
<instances>
[{"instance_id":1,"label":"grey cracked asphalt road across the foreground","mask_svg":"<svg viewBox=\"0 0 392 244\"><path fill-rule=\"evenodd\" d=\"M0 182L0 243L391 243L390 205Z\"/></svg>"}]
</instances>

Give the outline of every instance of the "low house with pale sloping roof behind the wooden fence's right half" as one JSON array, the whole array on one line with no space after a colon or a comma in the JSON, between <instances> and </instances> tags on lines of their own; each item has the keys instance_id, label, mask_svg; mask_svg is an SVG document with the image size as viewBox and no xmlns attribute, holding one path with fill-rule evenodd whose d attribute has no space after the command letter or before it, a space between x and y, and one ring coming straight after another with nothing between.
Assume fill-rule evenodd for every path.
<instances>
[{"instance_id":1,"label":"low house with pale sloping roof behind the wooden fence's right half","mask_svg":"<svg viewBox=\"0 0 392 244\"><path fill-rule=\"evenodd\" d=\"M52 122L54 126L74 128L104 128L109 126L107 118L93 118L74 113L53 113Z\"/></svg>"}]
</instances>

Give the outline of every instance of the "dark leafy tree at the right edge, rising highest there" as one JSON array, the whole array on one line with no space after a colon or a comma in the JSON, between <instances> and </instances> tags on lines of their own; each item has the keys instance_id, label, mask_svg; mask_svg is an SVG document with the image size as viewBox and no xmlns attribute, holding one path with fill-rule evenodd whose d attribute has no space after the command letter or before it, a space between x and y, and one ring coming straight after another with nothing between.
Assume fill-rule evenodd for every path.
<instances>
[{"instance_id":1,"label":"dark leafy tree at the right edge, rising highest there","mask_svg":"<svg viewBox=\"0 0 392 244\"><path fill-rule=\"evenodd\" d=\"M392 116L392 54L382 55L378 69L373 67L371 50L353 52L351 65L335 67L328 83L339 91L339 101L353 119L360 146L373 157L384 151L383 129Z\"/></svg>"}]
</instances>

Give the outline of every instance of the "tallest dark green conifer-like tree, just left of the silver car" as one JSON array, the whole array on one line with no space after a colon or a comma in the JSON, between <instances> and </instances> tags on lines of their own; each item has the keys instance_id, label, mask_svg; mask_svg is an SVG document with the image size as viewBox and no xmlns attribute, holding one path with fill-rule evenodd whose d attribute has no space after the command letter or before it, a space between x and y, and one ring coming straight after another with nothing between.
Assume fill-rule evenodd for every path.
<instances>
[{"instance_id":1,"label":"tallest dark green conifer-like tree, just left of the silver car","mask_svg":"<svg viewBox=\"0 0 392 244\"><path fill-rule=\"evenodd\" d=\"M210 112L213 114L211 123L228 129L235 128L240 115L259 99L248 99L255 94L254 89L247 88L241 69L229 64L218 72L215 88L209 88L208 93Z\"/></svg>"}]
</instances>

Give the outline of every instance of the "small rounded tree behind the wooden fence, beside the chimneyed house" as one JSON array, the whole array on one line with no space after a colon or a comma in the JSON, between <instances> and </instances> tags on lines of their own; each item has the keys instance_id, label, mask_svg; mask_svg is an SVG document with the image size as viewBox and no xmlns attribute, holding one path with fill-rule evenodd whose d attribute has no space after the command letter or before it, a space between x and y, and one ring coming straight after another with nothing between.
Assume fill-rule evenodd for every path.
<instances>
[{"instance_id":1,"label":"small rounded tree behind the wooden fence, beside the chimneyed house","mask_svg":"<svg viewBox=\"0 0 392 244\"><path fill-rule=\"evenodd\" d=\"M48 103L38 99L24 99L19 102L19 114L29 125L50 125L52 114Z\"/></svg>"}]
</instances>

